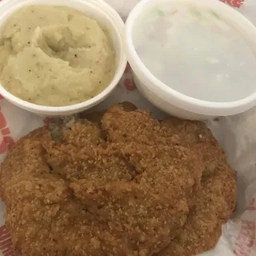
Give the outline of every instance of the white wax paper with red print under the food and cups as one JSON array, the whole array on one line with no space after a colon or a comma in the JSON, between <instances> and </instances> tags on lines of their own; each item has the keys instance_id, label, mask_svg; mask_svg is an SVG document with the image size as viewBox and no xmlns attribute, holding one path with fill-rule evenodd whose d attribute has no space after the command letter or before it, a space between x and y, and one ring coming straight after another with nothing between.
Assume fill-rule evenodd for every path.
<instances>
[{"instance_id":1,"label":"white wax paper with red print under the food and cups","mask_svg":"<svg viewBox=\"0 0 256 256\"><path fill-rule=\"evenodd\" d=\"M8 1L8 0L4 0ZM86 1L86 0L85 0ZM97 0L95 0L97 1ZM139 0L107 0L123 19ZM218 1L218 0L206 0ZM221 0L237 8L256 26L256 0ZM165 114L138 93L130 66L116 90L94 110L106 109L117 102L133 102L138 108L150 110L155 118ZM49 118L38 117L0 98L0 162L14 142L31 130L44 126ZM256 255L256 109L244 114L207 121L207 126L226 151L228 162L238 171L238 205L232 218L222 226L222 237L213 250L203 256ZM0 202L0 256L18 255L12 248L10 233L5 226L5 206Z\"/></svg>"}]
</instances>

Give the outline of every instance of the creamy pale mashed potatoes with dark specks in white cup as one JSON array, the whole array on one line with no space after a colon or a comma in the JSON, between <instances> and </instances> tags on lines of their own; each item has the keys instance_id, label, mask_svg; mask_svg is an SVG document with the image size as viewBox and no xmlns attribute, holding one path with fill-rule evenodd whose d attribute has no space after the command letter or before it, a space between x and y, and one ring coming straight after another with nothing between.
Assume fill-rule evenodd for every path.
<instances>
[{"instance_id":1,"label":"creamy pale mashed potatoes with dark specks in white cup","mask_svg":"<svg viewBox=\"0 0 256 256\"><path fill-rule=\"evenodd\" d=\"M62 6L26 6L2 27L0 82L18 98L68 106L114 77L114 47L98 22Z\"/></svg>"}]
</instances>

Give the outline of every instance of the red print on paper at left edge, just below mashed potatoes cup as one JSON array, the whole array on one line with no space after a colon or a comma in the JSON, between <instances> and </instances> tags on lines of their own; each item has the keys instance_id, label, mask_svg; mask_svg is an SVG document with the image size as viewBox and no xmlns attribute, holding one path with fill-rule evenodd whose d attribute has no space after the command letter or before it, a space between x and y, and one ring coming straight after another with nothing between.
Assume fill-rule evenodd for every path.
<instances>
[{"instance_id":1,"label":"red print on paper at left edge, just below mashed potatoes cup","mask_svg":"<svg viewBox=\"0 0 256 256\"><path fill-rule=\"evenodd\" d=\"M14 138L10 134L10 129L7 127L6 118L2 114L0 107L0 132L2 134L2 141L0 142L0 154L5 154L11 146L14 145Z\"/></svg>"}]
</instances>

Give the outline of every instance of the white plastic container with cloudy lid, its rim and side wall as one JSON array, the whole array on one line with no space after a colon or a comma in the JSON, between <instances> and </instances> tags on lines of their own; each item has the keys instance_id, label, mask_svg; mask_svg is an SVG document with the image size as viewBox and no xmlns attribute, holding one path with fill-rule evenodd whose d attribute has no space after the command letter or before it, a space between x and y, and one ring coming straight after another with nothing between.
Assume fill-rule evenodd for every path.
<instances>
[{"instance_id":1,"label":"white plastic container with cloudy lid, its rim and side wall","mask_svg":"<svg viewBox=\"0 0 256 256\"><path fill-rule=\"evenodd\" d=\"M126 54L128 62L130 62L130 66L134 72L135 83L138 86L138 90L159 109L179 118L206 119L216 116L227 116L242 113L255 106L256 84L255 92L246 98L241 98L234 102L207 102L191 98L171 89L147 70L134 49L132 35L141 15L145 14L150 6L155 6L158 2L158 0L142 0L130 12L126 21ZM197 3L199 6L212 8L216 14L223 15L231 24L238 24L240 30L245 31L244 36L249 37L248 39L256 52L256 29L254 25L230 6L217 0L166 0L165 2L170 2L170 4L174 2Z\"/></svg>"}]
</instances>

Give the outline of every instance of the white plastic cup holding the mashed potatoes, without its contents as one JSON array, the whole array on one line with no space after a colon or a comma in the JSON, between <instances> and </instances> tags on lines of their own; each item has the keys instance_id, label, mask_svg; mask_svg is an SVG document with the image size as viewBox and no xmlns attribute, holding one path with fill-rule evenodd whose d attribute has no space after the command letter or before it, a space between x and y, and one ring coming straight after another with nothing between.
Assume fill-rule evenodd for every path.
<instances>
[{"instance_id":1,"label":"white plastic cup holding the mashed potatoes, without its contents","mask_svg":"<svg viewBox=\"0 0 256 256\"><path fill-rule=\"evenodd\" d=\"M114 42L114 49L117 56L116 73L110 85L107 86L101 94L82 103L71 106L39 106L30 102L23 101L20 98L10 94L2 85L0 85L0 94L9 102L28 110L35 114L47 116L69 115L90 109L91 107L102 102L118 85L120 78L126 68L126 55L123 49L122 33L124 23L118 13L103 0L6 0L0 3L0 24L5 22L15 10L27 5L51 5L51 6L70 6L80 10L87 16L94 18L106 26L110 32L110 36Z\"/></svg>"}]
</instances>

